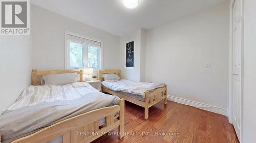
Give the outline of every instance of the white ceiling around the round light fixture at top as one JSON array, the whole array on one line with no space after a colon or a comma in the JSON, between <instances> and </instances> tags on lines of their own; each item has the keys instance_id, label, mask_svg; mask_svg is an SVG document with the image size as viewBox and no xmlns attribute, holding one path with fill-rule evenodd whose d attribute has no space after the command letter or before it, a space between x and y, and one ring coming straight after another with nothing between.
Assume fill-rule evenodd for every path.
<instances>
[{"instance_id":1,"label":"white ceiling around the round light fixture at top","mask_svg":"<svg viewBox=\"0 0 256 143\"><path fill-rule=\"evenodd\" d=\"M153 28L197 13L227 0L139 0L135 9L123 0L31 0L31 3L122 36L137 28Z\"/></svg>"}]
</instances>

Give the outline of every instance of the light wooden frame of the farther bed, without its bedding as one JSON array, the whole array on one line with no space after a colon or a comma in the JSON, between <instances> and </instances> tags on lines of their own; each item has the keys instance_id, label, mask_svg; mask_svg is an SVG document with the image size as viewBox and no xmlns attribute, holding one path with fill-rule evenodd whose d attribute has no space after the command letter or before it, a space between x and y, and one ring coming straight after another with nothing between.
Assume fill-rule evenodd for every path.
<instances>
[{"instance_id":1,"label":"light wooden frame of the farther bed, without its bedding","mask_svg":"<svg viewBox=\"0 0 256 143\"><path fill-rule=\"evenodd\" d=\"M104 74L104 73L118 74L118 76L121 78L121 70L104 70L104 71L99 70L99 73L98 73L99 80L101 80L101 81L104 80L101 76L101 74ZM153 92L145 91L144 92L145 101L148 101L148 102L136 100L134 98L125 96L123 94L114 92L114 91L109 90L109 89L106 89L103 86L102 86L101 90L102 90L102 92L106 92L106 93L109 93L109 94L112 94L112 95L116 95L119 98L123 98L124 100L127 100L127 101L132 102L136 105L144 107L145 108L145 112L144 112L144 118L145 119L148 118L148 108L157 104L158 102L160 102L163 99L165 100L164 104L165 105L167 104L167 84L165 84L165 87L155 89Z\"/></svg>"}]
</instances>

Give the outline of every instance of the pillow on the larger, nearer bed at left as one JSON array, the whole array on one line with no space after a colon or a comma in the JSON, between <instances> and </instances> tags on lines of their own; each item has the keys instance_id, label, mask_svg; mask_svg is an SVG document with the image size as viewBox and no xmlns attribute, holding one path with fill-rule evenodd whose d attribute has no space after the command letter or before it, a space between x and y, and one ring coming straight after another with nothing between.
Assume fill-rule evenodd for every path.
<instances>
[{"instance_id":1,"label":"pillow on the larger, nearer bed at left","mask_svg":"<svg viewBox=\"0 0 256 143\"><path fill-rule=\"evenodd\" d=\"M76 81L76 73L49 74L42 76L41 85L65 85Z\"/></svg>"}]
</instances>

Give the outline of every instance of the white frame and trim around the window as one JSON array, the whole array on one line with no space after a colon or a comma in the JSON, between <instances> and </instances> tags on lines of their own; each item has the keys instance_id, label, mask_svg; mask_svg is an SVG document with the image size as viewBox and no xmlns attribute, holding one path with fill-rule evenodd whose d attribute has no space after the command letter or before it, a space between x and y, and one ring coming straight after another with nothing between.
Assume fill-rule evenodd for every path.
<instances>
[{"instance_id":1,"label":"white frame and trim around the window","mask_svg":"<svg viewBox=\"0 0 256 143\"><path fill-rule=\"evenodd\" d=\"M65 69L66 70L74 70L74 69L83 69L83 68L86 68L87 66L84 66L84 67L81 67L81 68L74 68L74 67L70 67L69 66L69 46L67 45L67 42L68 42L68 35L72 35L72 36L76 36L76 37L79 37L79 38L84 38L84 39L88 39L88 40L92 40L92 41L97 41L97 42L100 42L100 47L99 47L99 53L98 53L98 68L93 68L94 70L100 70L102 69L103 67L103 42L101 40L98 40L98 39L92 39L92 38L88 38L88 37L85 37L85 36L82 36L82 35L78 35L78 34L74 34L74 33L71 33L71 32L68 32L68 31L65 31ZM74 41L75 42L75 41ZM77 42L79 43L79 42ZM84 46L90 46L88 44L84 44L82 43ZM83 50L84 52L84 50ZM84 55L84 54L83 54ZM88 56L88 55L87 55ZM84 57L83 57L84 59ZM88 58L87 58L88 59ZM83 61L84 62L84 61ZM88 62L87 62L88 63Z\"/></svg>"}]
</instances>

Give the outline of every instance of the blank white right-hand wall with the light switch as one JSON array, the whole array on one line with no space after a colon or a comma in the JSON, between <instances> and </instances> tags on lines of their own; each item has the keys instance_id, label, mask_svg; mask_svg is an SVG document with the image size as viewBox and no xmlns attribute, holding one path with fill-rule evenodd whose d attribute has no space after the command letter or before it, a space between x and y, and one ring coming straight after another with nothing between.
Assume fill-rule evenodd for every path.
<instances>
[{"instance_id":1,"label":"blank white right-hand wall with the light switch","mask_svg":"<svg viewBox=\"0 0 256 143\"><path fill-rule=\"evenodd\" d=\"M146 36L146 81L167 83L168 94L175 97L228 108L228 2Z\"/></svg>"}]
</instances>

